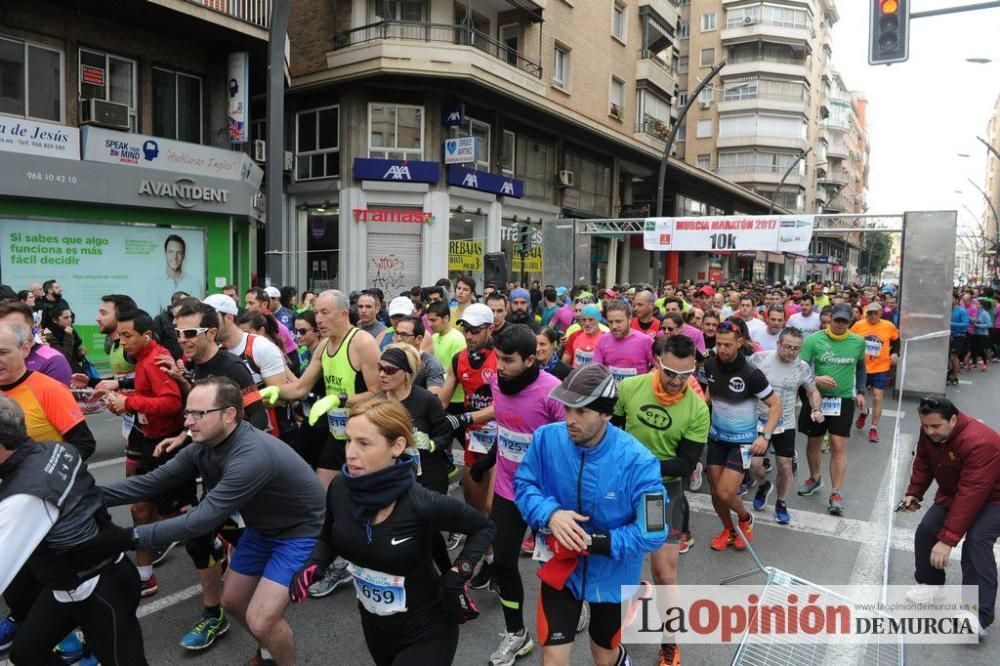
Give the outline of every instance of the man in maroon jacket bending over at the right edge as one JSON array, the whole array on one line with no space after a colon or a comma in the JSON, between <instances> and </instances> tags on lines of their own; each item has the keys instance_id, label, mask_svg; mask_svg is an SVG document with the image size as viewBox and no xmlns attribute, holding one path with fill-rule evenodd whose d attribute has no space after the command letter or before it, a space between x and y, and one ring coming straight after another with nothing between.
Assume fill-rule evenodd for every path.
<instances>
[{"instance_id":1,"label":"man in maroon jacket bending over at the right edge","mask_svg":"<svg viewBox=\"0 0 1000 666\"><path fill-rule=\"evenodd\" d=\"M932 481L938 491L914 535L918 587L907 596L931 600L933 586L944 585L951 550L965 537L962 584L979 589L979 628L985 630L997 597L993 546L1000 538L1000 434L945 398L921 399L917 413L920 439L903 506L919 509Z\"/></svg>"}]
</instances>

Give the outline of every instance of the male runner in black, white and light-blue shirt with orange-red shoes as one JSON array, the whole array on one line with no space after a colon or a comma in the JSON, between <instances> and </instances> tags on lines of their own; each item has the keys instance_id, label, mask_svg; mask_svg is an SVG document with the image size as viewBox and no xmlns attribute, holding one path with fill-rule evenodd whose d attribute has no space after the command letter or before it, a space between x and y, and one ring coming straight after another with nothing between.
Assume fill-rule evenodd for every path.
<instances>
[{"instance_id":1,"label":"male runner in black, white and light-blue shirt with orange-red shoes","mask_svg":"<svg viewBox=\"0 0 1000 666\"><path fill-rule=\"evenodd\" d=\"M772 433L781 419L781 402L760 370L747 364L740 353L743 335L732 322L719 324L715 356L705 361L706 399L712 404L708 433L708 478L712 505L722 521L722 531L712 540L713 550L732 546L744 550L753 538L753 516L738 495L752 456L767 452ZM767 423L757 434L757 400L768 408ZM730 515L735 512L740 532ZM745 538L744 538L745 537Z\"/></svg>"}]
</instances>

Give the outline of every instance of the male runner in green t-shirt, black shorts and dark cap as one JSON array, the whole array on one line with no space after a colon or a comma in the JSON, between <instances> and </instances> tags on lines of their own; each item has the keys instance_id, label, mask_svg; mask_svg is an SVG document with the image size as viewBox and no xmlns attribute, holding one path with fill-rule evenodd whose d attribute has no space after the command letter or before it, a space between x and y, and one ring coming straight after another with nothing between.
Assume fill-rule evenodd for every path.
<instances>
[{"instance_id":1,"label":"male runner in green t-shirt, black shorts and dark cap","mask_svg":"<svg viewBox=\"0 0 1000 666\"><path fill-rule=\"evenodd\" d=\"M820 476L823 435L830 434L830 492L828 510L839 516L844 513L844 498L840 493L847 476L847 439L851 436L854 408L865 409L865 340L851 333L851 306L838 303L833 306L830 325L806 338L801 358L813 367L816 387L823 397L824 420L817 423L799 414L799 432L809 438L806 457L809 460L809 478L799 488L799 495L808 497L823 487Z\"/></svg>"}]
</instances>

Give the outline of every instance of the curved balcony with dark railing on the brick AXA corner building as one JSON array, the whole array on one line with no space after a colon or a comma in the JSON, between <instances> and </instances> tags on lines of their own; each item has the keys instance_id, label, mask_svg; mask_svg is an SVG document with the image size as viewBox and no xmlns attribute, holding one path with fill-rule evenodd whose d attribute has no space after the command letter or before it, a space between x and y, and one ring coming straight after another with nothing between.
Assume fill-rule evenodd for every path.
<instances>
[{"instance_id":1,"label":"curved balcony with dark railing on the brick AXA corner building","mask_svg":"<svg viewBox=\"0 0 1000 666\"><path fill-rule=\"evenodd\" d=\"M484 78L545 94L542 66L468 25L380 21L339 32L327 66L344 77L379 72Z\"/></svg>"}]
</instances>

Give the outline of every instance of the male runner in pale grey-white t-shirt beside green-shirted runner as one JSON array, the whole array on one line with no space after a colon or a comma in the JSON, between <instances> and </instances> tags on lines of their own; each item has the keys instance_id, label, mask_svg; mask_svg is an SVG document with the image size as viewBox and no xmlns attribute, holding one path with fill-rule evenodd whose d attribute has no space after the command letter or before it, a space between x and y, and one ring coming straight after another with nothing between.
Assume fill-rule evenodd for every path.
<instances>
[{"instance_id":1,"label":"male runner in pale grey-white t-shirt beside green-shirted runner","mask_svg":"<svg viewBox=\"0 0 1000 666\"><path fill-rule=\"evenodd\" d=\"M774 351L757 352L750 357L750 364L764 373L768 383L778 394L781 401L781 420L774 429L771 447L777 457L778 472L775 483L767 480L767 470L763 465L763 457L754 456L750 463L750 472L757 482L757 494L753 499L754 511L760 511L767 503L771 491L778 490L774 503L774 516L778 523L787 525L791 518L788 514L788 504L785 498L795 478L793 463L795 460L795 402L799 389L804 389L809 399L810 418L822 422L823 412L820 409L819 391L816 390L815 378L808 363L799 358L802 350L802 331L797 328L786 328L778 336L778 348ZM757 429L763 431L767 423L768 409L763 405L757 408Z\"/></svg>"}]
</instances>

